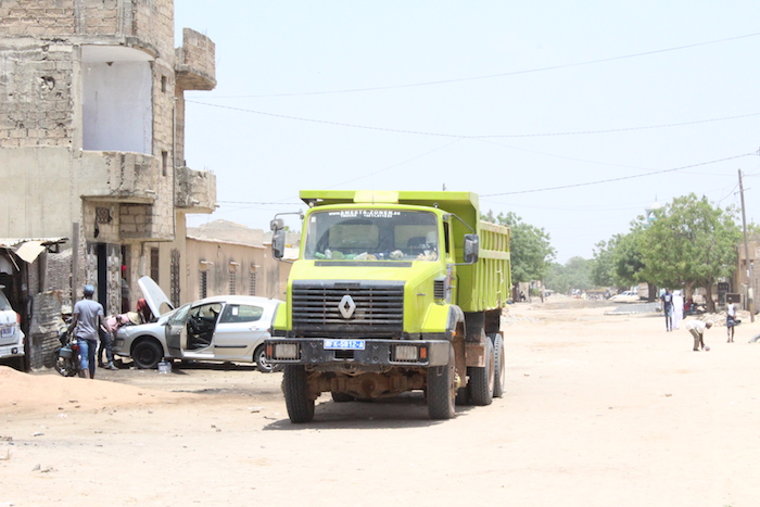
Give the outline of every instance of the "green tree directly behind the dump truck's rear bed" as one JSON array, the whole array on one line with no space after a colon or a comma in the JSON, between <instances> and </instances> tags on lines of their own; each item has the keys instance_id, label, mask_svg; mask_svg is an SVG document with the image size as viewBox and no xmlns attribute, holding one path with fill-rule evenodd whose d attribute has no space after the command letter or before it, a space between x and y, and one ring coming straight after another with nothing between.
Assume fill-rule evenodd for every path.
<instances>
[{"instance_id":1,"label":"green tree directly behind the dump truck's rear bed","mask_svg":"<svg viewBox=\"0 0 760 507\"><path fill-rule=\"evenodd\" d=\"M555 256L549 243L549 235L540 227L522 221L522 218L509 212L494 217L491 210L482 216L483 220L508 226L510 229L509 251L512 269L512 283L543 280Z\"/></svg>"}]
</instances>

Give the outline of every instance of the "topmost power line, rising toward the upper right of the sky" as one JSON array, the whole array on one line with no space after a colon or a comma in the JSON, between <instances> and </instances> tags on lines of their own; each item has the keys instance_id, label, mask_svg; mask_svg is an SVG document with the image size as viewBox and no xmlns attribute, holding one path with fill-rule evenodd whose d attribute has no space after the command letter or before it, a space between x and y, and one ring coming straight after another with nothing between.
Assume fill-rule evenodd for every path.
<instances>
[{"instance_id":1,"label":"topmost power line, rising toward the upper right of the sky","mask_svg":"<svg viewBox=\"0 0 760 507\"><path fill-rule=\"evenodd\" d=\"M693 45L676 46L673 48L656 49L653 51L644 51L641 53L624 54L624 55L619 55L619 56L609 56L609 58L598 59L598 60L588 60L585 62L567 63L567 64L562 64L562 65L552 65L552 66L546 66L546 67L529 68L525 71L512 71L512 72L506 72L506 73L499 73L499 74L489 74L485 76L460 77L460 78L454 78L454 79L440 79L440 80L433 80L433 81L411 83L411 84L406 84L406 85L389 85L389 86L377 86L377 87L367 87L367 88L349 88L349 89L344 89L344 90L306 91L306 92L295 92L295 93L270 93L270 94L259 94L259 96L215 97L215 99L258 99L258 98L263 99L263 98L270 98L270 97L324 96L324 94L337 94L337 93L357 93L357 92L365 92L365 91L393 90L393 89L398 89L398 88L414 88L414 87L422 87L422 86L448 85L451 83L464 83L464 81L474 81L474 80L481 80L481 79L493 79L496 77L518 76L521 74L532 74L532 73L539 73L539 72L557 71L559 68L570 68L570 67L578 67L578 66L582 66L582 65L594 65L597 63L606 63L606 62L613 62L616 60L626 60L626 59L633 59L633 58L639 58L639 56L648 56L650 54L667 53L667 52L671 52L671 51L681 51L683 49L698 48L700 46L717 45L717 43L721 43L721 42L729 42L732 40L746 39L746 38L757 37L757 36L760 36L760 33L739 35L736 37L727 37L725 39L709 40L706 42L696 42Z\"/></svg>"}]
</instances>

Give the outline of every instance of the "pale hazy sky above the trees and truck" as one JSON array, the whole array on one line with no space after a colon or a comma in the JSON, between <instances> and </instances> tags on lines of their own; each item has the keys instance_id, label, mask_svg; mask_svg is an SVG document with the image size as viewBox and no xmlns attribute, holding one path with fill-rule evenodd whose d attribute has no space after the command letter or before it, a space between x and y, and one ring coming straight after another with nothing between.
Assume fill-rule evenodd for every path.
<instances>
[{"instance_id":1,"label":"pale hazy sky above the trees and truck","mask_svg":"<svg viewBox=\"0 0 760 507\"><path fill-rule=\"evenodd\" d=\"M655 201L760 220L760 2L176 0L216 43L186 160L226 219L301 189L471 191L592 257ZM295 220L288 220L300 229Z\"/></svg>"}]
</instances>

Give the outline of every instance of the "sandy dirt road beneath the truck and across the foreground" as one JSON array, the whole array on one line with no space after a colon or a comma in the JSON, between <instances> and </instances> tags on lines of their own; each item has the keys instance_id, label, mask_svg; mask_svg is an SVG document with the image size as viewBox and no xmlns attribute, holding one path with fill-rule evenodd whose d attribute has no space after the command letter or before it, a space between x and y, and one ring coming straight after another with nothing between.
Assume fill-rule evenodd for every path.
<instances>
[{"instance_id":1,"label":"sandy dirt road beneath the truck and across the foreground","mask_svg":"<svg viewBox=\"0 0 760 507\"><path fill-rule=\"evenodd\" d=\"M0 506L760 505L760 321L697 353L659 316L554 301L509 307L505 396L449 421L410 394L291 424L250 366L0 367Z\"/></svg>"}]
</instances>

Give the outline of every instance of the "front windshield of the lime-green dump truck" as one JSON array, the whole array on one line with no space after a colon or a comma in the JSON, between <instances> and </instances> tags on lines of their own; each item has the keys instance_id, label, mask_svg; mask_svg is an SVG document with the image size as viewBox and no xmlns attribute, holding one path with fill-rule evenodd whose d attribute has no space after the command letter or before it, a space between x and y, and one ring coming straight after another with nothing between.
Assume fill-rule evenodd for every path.
<instances>
[{"instance_id":1,"label":"front windshield of the lime-green dump truck","mask_svg":"<svg viewBox=\"0 0 760 507\"><path fill-rule=\"evenodd\" d=\"M397 210L340 210L309 216L304 258L436 261L435 214Z\"/></svg>"}]
</instances>

